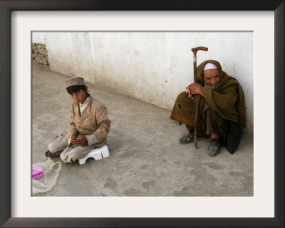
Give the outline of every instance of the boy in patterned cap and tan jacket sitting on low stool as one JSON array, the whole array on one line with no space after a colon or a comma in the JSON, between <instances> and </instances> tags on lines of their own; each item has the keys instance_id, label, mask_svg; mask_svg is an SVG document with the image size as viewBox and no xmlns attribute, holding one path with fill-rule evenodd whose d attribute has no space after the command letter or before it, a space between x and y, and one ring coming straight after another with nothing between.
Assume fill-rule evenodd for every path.
<instances>
[{"instance_id":1,"label":"boy in patterned cap and tan jacket sitting on low stool","mask_svg":"<svg viewBox=\"0 0 285 228\"><path fill-rule=\"evenodd\" d=\"M46 156L60 155L63 162L72 163L86 157L95 147L105 145L111 121L105 105L88 93L84 78L69 78L65 83L74 100L70 107L71 120L67 133L58 135L48 145Z\"/></svg>"}]
</instances>

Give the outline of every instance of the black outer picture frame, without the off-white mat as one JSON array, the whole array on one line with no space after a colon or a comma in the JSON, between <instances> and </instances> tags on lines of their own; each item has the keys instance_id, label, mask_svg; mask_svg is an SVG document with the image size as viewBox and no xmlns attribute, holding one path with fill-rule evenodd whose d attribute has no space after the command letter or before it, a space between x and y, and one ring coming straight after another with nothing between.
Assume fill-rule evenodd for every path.
<instances>
[{"instance_id":1,"label":"black outer picture frame, without the off-white mat","mask_svg":"<svg viewBox=\"0 0 285 228\"><path fill-rule=\"evenodd\" d=\"M11 217L11 11L274 11L274 218ZM284 227L284 0L0 1L0 225L2 227ZM264 47L266 51L266 47ZM4 99L3 99L4 98ZM264 137L266 138L264 130Z\"/></svg>"}]
</instances>

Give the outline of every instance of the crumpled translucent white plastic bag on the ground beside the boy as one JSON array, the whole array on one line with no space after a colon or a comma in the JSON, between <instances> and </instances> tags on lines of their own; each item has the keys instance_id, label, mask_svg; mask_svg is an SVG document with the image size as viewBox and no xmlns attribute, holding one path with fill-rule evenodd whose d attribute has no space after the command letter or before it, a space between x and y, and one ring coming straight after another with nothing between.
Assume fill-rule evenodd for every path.
<instances>
[{"instance_id":1,"label":"crumpled translucent white plastic bag on the ground beside the boy","mask_svg":"<svg viewBox=\"0 0 285 228\"><path fill-rule=\"evenodd\" d=\"M32 195L40 192L48 192L56 184L59 171L61 170L61 162L55 163L48 157L48 160L45 162L36 162L33 165L41 167L44 174L37 180L32 178Z\"/></svg>"}]
</instances>

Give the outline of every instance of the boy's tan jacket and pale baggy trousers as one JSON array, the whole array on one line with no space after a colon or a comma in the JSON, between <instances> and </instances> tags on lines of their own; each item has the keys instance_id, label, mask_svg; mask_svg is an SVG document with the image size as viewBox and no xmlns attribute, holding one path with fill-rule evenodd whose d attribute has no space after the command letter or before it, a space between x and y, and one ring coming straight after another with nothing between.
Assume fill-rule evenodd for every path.
<instances>
[{"instance_id":1,"label":"boy's tan jacket and pale baggy trousers","mask_svg":"<svg viewBox=\"0 0 285 228\"><path fill-rule=\"evenodd\" d=\"M80 107L82 106L82 107ZM83 112L81 114L81 109ZM86 99L86 104L71 103L71 119L66 135L61 135L50 145L48 150L58 153L61 150L61 160L63 162L75 162L79 158L86 157L90 150L95 147L102 147L107 142L107 134L110 131L111 121L108 118L108 110L103 103L90 96ZM88 144L81 147L71 143L72 135L85 135Z\"/></svg>"}]
</instances>

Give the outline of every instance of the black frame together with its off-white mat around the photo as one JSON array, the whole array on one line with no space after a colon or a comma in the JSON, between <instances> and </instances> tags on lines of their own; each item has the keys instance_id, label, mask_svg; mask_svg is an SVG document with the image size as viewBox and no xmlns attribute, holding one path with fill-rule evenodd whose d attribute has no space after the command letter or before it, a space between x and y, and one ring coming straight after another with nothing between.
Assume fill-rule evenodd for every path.
<instances>
[{"instance_id":1,"label":"black frame together with its off-white mat around the photo","mask_svg":"<svg viewBox=\"0 0 285 228\"><path fill-rule=\"evenodd\" d=\"M284 1L0 1L0 15L2 227L284 227ZM26 58L32 31L63 30L253 32L254 196L31 197Z\"/></svg>"}]
</instances>

